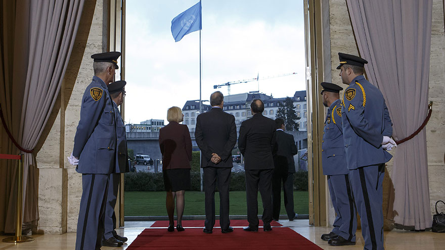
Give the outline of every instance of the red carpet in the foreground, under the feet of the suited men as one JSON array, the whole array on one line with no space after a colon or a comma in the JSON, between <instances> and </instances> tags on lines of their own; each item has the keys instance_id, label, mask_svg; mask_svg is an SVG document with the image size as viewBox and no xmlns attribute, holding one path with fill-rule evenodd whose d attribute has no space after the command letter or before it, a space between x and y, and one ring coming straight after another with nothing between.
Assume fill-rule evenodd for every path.
<instances>
[{"instance_id":1,"label":"red carpet in the foreground, under the feet of the suited men","mask_svg":"<svg viewBox=\"0 0 445 250\"><path fill-rule=\"evenodd\" d=\"M183 221L183 225L185 222ZM202 226L202 221L199 225ZM288 227L274 227L270 232L264 232L262 228L259 228L258 232L245 232L242 228L235 228L227 234L221 233L220 230L205 234L201 228L186 228L183 232L167 232L166 228L147 228L126 249L323 250Z\"/></svg>"}]
</instances>

